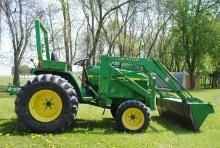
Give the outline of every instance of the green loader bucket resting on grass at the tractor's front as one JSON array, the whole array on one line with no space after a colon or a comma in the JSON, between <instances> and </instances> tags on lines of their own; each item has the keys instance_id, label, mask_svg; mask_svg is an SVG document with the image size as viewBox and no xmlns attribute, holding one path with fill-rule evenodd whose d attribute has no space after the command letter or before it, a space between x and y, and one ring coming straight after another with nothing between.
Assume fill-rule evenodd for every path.
<instances>
[{"instance_id":1,"label":"green loader bucket resting on grass at the tractor's front","mask_svg":"<svg viewBox=\"0 0 220 148\"><path fill-rule=\"evenodd\" d=\"M160 116L174 119L181 126L194 131L199 130L208 114L214 113L211 104L200 100L182 102L176 98L157 98L157 109Z\"/></svg>"}]
</instances>

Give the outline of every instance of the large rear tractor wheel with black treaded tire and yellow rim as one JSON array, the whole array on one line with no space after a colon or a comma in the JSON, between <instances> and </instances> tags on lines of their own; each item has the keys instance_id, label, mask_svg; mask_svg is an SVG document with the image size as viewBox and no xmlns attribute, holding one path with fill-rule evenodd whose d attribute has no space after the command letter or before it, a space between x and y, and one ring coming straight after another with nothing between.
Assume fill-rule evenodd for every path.
<instances>
[{"instance_id":1,"label":"large rear tractor wheel with black treaded tire and yellow rim","mask_svg":"<svg viewBox=\"0 0 220 148\"><path fill-rule=\"evenodd\" d=\"M28 81L15 100L17 118L30 132L64 131L74 124L78 98L60 76L44 74Z\"/></svg>"}]
</instances>

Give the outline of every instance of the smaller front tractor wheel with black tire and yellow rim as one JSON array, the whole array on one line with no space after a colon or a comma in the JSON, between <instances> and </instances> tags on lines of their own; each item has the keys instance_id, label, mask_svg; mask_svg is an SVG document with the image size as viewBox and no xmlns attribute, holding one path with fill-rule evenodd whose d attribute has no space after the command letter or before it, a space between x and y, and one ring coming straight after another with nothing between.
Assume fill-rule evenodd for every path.
<instances>
[{"instance_id":1,"label":"smaller front tractor wheel with black tire and yellow rim","mask_svg":"<svg viewBox=\"0 0 220 148\"><path fill-rule=\"evenodd\" d=\"M150 108L140 101L125 101L118 107L115 120L120 131L145 132L151 120Z\"/></svg>"}]
</instances>

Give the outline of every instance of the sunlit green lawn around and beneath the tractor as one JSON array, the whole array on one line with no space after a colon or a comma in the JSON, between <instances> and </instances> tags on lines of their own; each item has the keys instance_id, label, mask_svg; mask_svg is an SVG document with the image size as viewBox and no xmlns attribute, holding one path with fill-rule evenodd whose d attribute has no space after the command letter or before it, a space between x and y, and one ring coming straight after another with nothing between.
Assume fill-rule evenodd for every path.
<instances>
[{"instance_id":1,"label":"sunlit green lawn around and beneath the tractor","mask_svg":"<svg viewBox=\"0 0 220 148\"><path fill-rule=\"evenodd\" d=\"M0 147L220 147L220 89L192 91L212 102L211 114L197 133L152 113L149 129L143 134L120 133L108 110L80 105L76 127L59 134L27 133L16 120L15 96L6 90L11 78L0 78ZM23 82L25 80L22 80Z\"/></svg>"}]
</instances>

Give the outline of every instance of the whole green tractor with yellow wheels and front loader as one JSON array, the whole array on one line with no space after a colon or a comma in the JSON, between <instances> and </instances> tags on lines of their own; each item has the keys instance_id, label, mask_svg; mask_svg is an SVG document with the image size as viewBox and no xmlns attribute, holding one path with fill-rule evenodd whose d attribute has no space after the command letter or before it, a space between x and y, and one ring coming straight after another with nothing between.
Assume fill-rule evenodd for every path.
<instances>
[{"instance_id":1,"label":"whole green tractor with yellow wheels and front loader","mask_svg":"<svg viewBox=\"0 0 220 148\"><path fill-rule=\"evenodd\" d=\"M211 104L191 96L153 58L102 56L96 65L83 59L75 63L83 69L79 80L66 62L58 61L54 53L50 55L47 30L39 20L35 29L39 63L32 74L36 77L21 88L15 101L18 120L29 131L58 132L73 126L79 103L110 109L117 128L127 132L146 131L151 110L158 110L160 116L174 118L195 131L214 112ZM42 54L41 31L46 59ZM169 86L173 95L156 87L155 75Z\"/></svg>"}]
</instances>

